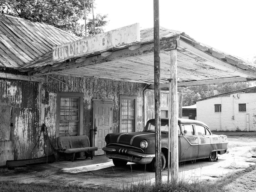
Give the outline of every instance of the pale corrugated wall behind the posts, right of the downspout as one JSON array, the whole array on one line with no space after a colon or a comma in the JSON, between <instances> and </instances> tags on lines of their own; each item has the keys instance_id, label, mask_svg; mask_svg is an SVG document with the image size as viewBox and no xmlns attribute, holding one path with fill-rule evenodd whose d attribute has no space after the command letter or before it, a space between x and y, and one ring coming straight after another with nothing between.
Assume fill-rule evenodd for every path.
<instances>
[{"instance_id":1,"label":"pale corrugated wall behind the posts, right of the downspout","mask_svg":"<svg viewBox=\"0 0 256 192\"><path fill-rule=\"evenodd\" d=\"M160 107L161 110L168 110L169 108L169 92L168 91L161 91L161 103ZM178 117L181 118L181 100L182 100L182 94L178 93ZM144 122L146 122L149 119L154 119L154 90L145 90L144 92Z\"/></svg>"}]
</instances>

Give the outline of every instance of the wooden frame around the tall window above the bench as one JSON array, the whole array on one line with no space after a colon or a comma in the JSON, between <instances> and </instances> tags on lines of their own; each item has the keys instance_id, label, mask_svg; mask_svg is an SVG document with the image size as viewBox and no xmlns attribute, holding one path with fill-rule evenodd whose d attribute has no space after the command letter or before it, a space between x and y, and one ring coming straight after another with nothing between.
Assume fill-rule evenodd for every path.
<instances>
[{"instance_id":1,"label":"wooden frame around the tall window above the bench","mask_svg":"<svg viewBox=\"0 0 256 192\"><path fill-rule=\"evenodd\" d=\"M61 114L61 97L76 97L79 98L79 126L78 126L78 135L83 135L83 103L84 103L84 93L76 92L57 92L56 98L56 137L59 137L59 123L60 123L60 114ZM65 136L67 137L67 136Z\"/></svg>"}]
</instances>

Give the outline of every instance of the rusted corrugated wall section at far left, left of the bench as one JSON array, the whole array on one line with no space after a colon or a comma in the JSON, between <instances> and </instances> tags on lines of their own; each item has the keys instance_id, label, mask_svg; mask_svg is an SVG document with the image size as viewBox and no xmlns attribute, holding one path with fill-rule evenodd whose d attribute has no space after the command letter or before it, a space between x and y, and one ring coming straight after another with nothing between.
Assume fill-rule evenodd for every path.
<instances>
[{"instance_id":1,"label":"rusted corrugated wall section at far left, left of the bench","mask_svg":"<svg viewBox=\"0 0 256 192\"><path fill-rule=\"evenodd\" d=\"M38 157L42 140L32 152L40 133L38 127L38 83L0 79L0 103L11 107L9 138L15 148L14 159Z\"/></svg>"}]
</instances>

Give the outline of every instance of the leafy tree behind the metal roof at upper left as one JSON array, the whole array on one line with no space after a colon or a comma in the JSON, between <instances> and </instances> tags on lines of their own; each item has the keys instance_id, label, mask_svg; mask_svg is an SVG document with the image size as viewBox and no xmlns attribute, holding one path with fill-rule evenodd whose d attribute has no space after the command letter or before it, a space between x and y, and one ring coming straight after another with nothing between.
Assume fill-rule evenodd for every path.
<instances>
[{"instance_id":1,"label":"leafy tree behind the metal roof at upper left","mask_svg":"<svg viewBox=\"0 0 256 192\"><path fill-rule=\"evenodd\" d=\"M86 14L92 11L94 0L2 0L0 12L53 25L59 29L83 36L84 25L79 20L84 19L84 3ZM87 17L87 16L86 16ZM107 24L107 15L96 15L95 33L103 32L103 26ZM88 17L87 17L88 18ZM93 35L93 21L89 19L87 29Z\"/></svg>"}]
</instances>

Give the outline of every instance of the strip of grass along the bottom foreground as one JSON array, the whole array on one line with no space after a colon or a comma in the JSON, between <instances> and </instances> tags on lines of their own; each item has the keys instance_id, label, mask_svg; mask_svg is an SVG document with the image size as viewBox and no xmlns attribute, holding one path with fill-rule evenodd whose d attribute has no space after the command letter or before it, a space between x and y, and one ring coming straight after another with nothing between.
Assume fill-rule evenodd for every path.
<instances>
[{"instance_id":1,"label":"strip of grass along the bottom foreground","mask_svg":"<svg viewBox=\"0 0 256 192\"><path fill-rule=\"evenodd\" d=\"M244 170L228 174L216 180L204 180L201 182L188 183L181 181L176 185L161 184L155 186L152 183L142 182L123 186L122 189L108 188L107 186L95 186L93 188L79 185L62 186L63 184L38 184L38 183L15 183L0 181L1 192L228 192L254 191L256 180L256 165Z\"/></svg>"}]
</instances>

